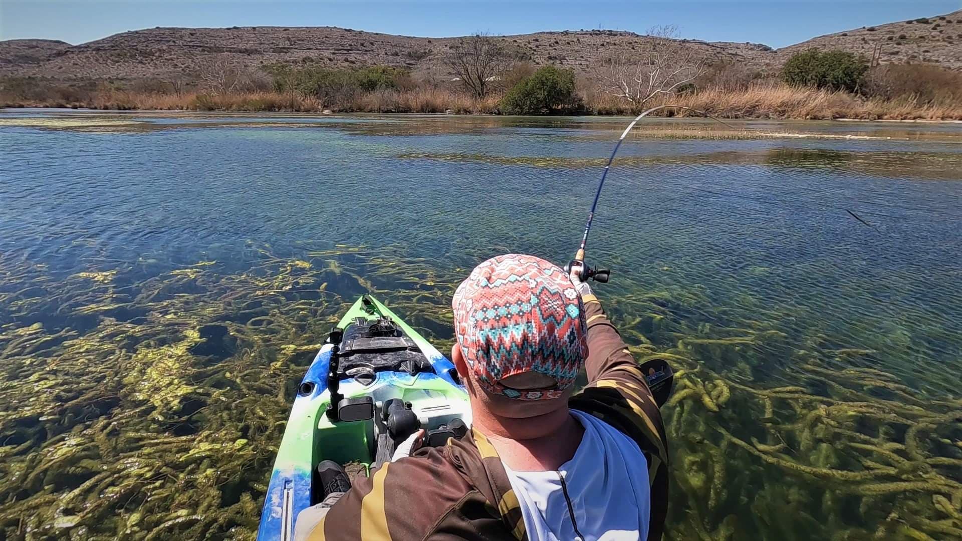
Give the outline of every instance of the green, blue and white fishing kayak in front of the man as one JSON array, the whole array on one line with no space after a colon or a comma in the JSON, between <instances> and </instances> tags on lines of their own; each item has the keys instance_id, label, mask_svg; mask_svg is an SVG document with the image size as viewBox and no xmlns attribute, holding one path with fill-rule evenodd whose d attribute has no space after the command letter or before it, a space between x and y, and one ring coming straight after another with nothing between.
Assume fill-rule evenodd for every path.
<instances>
[{"instance_id":1,"label":"green, blue and white fishing kayak in front of the man","mask_svg":"<svg viewBox=\"0 0 962 541\"><path fill-rule=\"evenodd\" d=\"M332 399L333 397L333 399ZM322 460L367 475L418 428L443 445L470 425L454 364L372 296L354 302L297 388L261 512L260 541L293 539L297 514L323 500Z\"/></svg>"}]
</instances>

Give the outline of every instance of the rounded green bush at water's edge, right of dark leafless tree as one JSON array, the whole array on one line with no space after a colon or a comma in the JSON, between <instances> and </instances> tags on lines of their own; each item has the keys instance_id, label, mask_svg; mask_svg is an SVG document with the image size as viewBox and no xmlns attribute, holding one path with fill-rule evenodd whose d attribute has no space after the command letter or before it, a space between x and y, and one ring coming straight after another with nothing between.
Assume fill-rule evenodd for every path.
<instances>
[{"instance_id":1,"label":"rounded green bush at water's edge, right of dark leafless tree","mask_svg":"<svg viewBox=\"0 0 962 541\"><path fill-rule=\"evenodd\" d=\"M545 65L508 90L501 109L511 115L549 115L577 109L579 104L574 70Z\"/></svg>"}]
</instances>

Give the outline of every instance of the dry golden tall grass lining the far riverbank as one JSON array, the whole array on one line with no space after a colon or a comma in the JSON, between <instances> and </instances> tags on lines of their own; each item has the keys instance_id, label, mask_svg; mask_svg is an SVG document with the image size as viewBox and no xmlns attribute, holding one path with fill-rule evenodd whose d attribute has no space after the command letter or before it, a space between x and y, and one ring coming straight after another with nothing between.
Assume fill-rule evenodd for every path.
<instances>
[{"instance_id":1,"label":"dry golden tall grass lining the far riverbank","mask_svg":"<svg viewBox=\"0 0 962 541\"><path fill-rule=\"evenodd\" d=\"M664 96L643 106L592 89L583 89L584 112L591 115L631 115L656 105L682 105L727 118L858 118L858 119L962 119L957 99L920 99L918 95L864 98L845 91L799 89L778 83L756 83L746 89L709 88L676 96ZM65 97L64 97L65 96ZM354 113L457 113L497 114L500 95L474 99L449 89L418 87L409 90L358 92L336 112ZM186 111L277 111L316 113L326 107L312 96L296 92L245 91L228 94L184 92L181 94L110 90L53 93L49 97L18 97L0 92L0 105L38 107L84 107L111 110ZM661 116L691 116L683 110L664 110Z\"/></svg>"}]
</instances>

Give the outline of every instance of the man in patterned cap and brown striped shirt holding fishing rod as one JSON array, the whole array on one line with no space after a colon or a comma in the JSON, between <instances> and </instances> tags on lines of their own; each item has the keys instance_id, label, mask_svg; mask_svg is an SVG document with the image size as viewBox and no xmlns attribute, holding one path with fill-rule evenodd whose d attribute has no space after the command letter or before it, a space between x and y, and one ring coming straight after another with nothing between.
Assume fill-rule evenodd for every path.
<instances>
[{"instance_id":1,"label":"man in patterned cap and brown striped shirt holding fishing rod","mask_svg":"<svg viewBox=\"0 0 962 541\"><path fill-rule=\"evenodd\" d=\"M661 415L579 274L519 254L472 270L452 301L451 350L470 431L356 479L319 520L301 514L295 537L660 539ZM588 386L571 396L582 368Z\"/></svg>"}]
</instances>

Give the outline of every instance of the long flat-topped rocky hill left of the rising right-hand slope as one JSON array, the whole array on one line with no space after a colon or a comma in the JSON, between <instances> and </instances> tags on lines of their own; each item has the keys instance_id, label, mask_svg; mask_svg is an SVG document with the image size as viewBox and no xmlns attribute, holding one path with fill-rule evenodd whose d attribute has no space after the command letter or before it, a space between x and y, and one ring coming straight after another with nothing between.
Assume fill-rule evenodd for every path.
<instances>
[{"instance_id":1,"label":"long flat-topped rocky hill left of the rising right-hand slope","mask_svg":"<svg viewBox=\"0 0 962 541\"><path fill-rule=\"evenodd\" d=\"M630 32L539 32L503 39L519 60L590 69L606 56L644 49L648 38ZM330 65L385 64L419 77L443 77L443 53L456 39L411 38L336 27L154 28L70 46L18 39L0 42L0 74L71 79L169 78L212 60L256 67L276 62ZM752 43L690 41L715 60L757 64L772 49ZM54 46L50 43L59 43Z\"/></svg>"}]
</instances>

